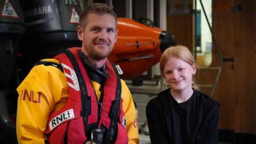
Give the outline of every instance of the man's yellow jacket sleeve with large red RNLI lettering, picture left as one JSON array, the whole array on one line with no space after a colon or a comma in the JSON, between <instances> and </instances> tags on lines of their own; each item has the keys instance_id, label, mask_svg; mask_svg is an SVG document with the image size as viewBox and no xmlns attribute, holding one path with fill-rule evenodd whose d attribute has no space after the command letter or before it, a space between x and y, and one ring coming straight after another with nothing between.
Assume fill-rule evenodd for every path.
<instances>
[{"instance_id":1,"label":"man's yellow jacket sleeve with large red RNLI lettering, picture left","mask_svg":"<svg viewBox=\"0 0 256 144\"><path fill-rule=\"evenodd\" d=\"M63 82L66 82L65 75L58 68L38 65L19 85L16 124L19 143L45 143L49 115L63 106L56 107L55 103L67 98L67 86Z\"/></svg>"}]
</instances>

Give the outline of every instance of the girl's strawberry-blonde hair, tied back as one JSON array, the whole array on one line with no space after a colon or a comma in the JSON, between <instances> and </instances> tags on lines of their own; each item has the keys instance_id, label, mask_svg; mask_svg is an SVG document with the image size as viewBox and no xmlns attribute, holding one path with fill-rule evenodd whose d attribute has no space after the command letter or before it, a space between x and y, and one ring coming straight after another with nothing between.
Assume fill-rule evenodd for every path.
<instances>
[{"instance_id":1,"label":"girl's strawberry-blonde hair, tied back","mask_svg":"<svg viewBox=\"0 0 256 144\"><path fill-rule=\"evenodd\" d=\"M165 64L171 58L177 58L177 59L183 60L191 66L196 63L195 58L193 57L193 55L191 54L191 52L188 50L186 46L183 46L183 45L171 46L163 52L162 57L160 59L159 66L160 66L161 74L163 77L164 77ZM195 90L199 90L198 85L195 84L194 81L195 81L195 78L193 76L192 87Z\"/></svg>"}]
</instances>

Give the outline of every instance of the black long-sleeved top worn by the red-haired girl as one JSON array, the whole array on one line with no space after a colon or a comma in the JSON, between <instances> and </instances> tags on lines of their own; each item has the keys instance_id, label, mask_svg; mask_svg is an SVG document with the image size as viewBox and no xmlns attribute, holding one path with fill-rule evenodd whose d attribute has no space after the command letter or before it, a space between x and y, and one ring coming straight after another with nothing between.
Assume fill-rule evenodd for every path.
<instances>
[{"instance_id":1,"label":"black long-sleeved top worn by the red-haired girl","mask_svg":"<svg viewBox=\"0 0 256 144\"><path fill-rule=\"evenodd\" d=\"M219 103L202 92L178 103L170 89L162 91L146 115L151 143L218 143Z\"/></svg>"}]
</instances>

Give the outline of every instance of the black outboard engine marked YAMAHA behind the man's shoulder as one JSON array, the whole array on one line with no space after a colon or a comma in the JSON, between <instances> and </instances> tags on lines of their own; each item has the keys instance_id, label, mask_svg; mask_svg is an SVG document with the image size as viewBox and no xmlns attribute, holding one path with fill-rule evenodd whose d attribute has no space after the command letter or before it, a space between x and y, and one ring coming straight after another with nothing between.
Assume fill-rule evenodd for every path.
<instances>
[{"instance_id":1,"label":"black outboard engine marked YAMAHA behind the man's shoulder","mask_svg":"<svg viewBox=\"0 0 256 144\"><path fill-rule=\"evenodd\" d=\"M81 46L76 28L81 6L78 0L23 0L26 35L20 46L26 72L38 60L53 58L63 50Z\"/></svg>"}]
</instances>

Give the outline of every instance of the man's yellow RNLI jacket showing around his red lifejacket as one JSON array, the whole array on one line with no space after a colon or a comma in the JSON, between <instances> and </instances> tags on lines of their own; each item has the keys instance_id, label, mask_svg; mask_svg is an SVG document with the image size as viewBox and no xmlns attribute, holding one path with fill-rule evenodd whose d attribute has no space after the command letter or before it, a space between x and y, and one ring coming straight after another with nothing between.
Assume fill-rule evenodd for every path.
<instances>
[{"instance_id":1,"label":"man's yellow RNLI jacket showing around his red lifejacket","mask_svg":"<svg viewBox=\"0 0 256 144\"><path fill-rule=\"evenodd\" d=\"M55 59L45 59L60 63ZM121 79L123 111L129 143L139 143L137 114L132 95ZM100 84L92 81L100 97ZM37 65L17 88L17 138L19 143L45 143L47 122L52 112L62 108L68 98L68 84L64 73L54 66Z\"/></svg>"}]
</instances>

